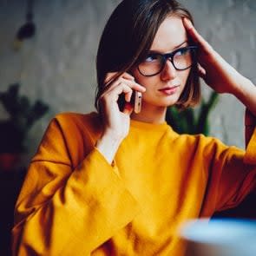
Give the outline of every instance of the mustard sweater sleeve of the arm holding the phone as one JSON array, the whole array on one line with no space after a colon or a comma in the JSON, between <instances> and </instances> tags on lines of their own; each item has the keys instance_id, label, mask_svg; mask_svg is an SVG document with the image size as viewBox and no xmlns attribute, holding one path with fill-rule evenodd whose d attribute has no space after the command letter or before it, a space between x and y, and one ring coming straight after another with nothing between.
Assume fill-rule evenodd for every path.
<instances>
[{"instance_id":1,"label":"mustard sweater sleeve of the arm holding the phone","mask_svg":"<svg viewBox=\"0 0 256 256\"><path fill-rule=\"evenodd\" d=\"M16 202L13 255L89 255L135 217L115 167L92 147L73 169L70 148L51 121Z\"/></svg>"}]
</instances>

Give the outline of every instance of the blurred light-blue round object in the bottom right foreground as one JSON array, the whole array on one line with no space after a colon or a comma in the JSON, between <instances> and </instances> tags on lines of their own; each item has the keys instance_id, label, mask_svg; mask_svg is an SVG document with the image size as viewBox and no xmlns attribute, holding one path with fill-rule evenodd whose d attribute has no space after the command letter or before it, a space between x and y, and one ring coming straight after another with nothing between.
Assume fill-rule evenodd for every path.
<instances>
[{"instance_id":1,"label":"blurred light-blue round object in the bottom right foreground","mask_svg":"<svg viewBox=\"0 0 256 256\"><path fill-rule=\"evenodd\" d=\"M186 256L255 256L256 221L190 220L181 226Z\"/></svg>"}]
</instances>

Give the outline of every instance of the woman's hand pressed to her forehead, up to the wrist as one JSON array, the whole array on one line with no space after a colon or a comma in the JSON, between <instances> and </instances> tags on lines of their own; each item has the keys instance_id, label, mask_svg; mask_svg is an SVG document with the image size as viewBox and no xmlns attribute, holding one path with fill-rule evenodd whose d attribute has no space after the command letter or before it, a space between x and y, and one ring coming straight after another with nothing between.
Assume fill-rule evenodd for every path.
<instances>
[{"instance_id":1,"label":"woman's hand pressed to her forehead, up to the wrist","mask_svg":"<svg viewBox=\"0 0 256 256\"><path fill-rule=\"evenodd\" d=\"M231 93L236 95L240 86L247 80L246 77L233 69L207 41L200 36L193 24L183 19L188 36L199 47L198 62L199 74L207 84L218 93Z\"/></svg>"}]
</instances>

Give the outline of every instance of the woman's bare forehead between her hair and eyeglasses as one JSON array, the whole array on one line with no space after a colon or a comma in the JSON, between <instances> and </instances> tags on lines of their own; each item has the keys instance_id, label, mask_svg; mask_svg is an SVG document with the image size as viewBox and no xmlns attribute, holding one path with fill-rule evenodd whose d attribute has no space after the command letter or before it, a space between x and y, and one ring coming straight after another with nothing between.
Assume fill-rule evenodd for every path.
<instances>
[{"instance_id":1,"label":"woman's bare forehead between her hair and eyeglasses","mask_svg":"<svg viewBox=\"0 0 256 256\"><path fill-rule=\"evenodd\" d=\"M150 49L162 53L170 52L186 41L187 32L181 17L168 16L161 23Z\"/></svg>"}]
</instances>

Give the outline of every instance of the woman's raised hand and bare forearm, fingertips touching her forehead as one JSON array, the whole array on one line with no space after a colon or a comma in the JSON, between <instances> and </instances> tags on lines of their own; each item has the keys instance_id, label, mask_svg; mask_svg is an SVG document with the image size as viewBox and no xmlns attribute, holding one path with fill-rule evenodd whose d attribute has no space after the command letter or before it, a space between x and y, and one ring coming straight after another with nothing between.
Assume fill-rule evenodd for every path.
<instances>
[{"instance_id":1,"label":"woman's raised hand and bare forearm, fingertips touching her forehead","mask_svg":"<svg viewBox=\"0 0 256 256\"><path fill-rule=\"evenodd\" d=\"M207 41L194 29L193 24L183 19L184 27L199 47L199 73L207 84L218 93L236 96L256 116L256 87L228 64Z\"/></svg>"}]
</instances>

